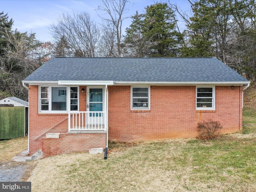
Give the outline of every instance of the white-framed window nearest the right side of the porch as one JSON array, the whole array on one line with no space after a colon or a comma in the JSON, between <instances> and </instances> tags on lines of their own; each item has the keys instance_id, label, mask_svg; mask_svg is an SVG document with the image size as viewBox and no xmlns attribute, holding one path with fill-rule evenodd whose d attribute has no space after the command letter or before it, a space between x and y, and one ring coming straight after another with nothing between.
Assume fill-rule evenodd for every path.
<instances>
[{"instance_id":1,"label":"white-framed window nearest the right side of the porch","mask_svg":"<svg viewBox=\"0 0 256 192\"><path fill-rule=\"evenodd\" d=\"M131 109L150 109L150 87L131 87Z\"/></svg>"}]
</instances>

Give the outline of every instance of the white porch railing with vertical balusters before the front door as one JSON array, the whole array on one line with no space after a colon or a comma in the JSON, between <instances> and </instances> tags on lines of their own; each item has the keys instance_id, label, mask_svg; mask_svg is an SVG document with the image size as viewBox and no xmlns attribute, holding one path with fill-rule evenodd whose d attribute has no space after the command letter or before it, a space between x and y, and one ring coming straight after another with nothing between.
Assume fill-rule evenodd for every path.
<instances>
[{"instance_id":1,"label":"white porch railing with vertical balusters before the front door","mask_svg":"<svg viewBox=\"0 0 256 192\"><path fill-rule=\"evenodd\" d=\"M104 111L78 111L69 112L68 130L104 130L106 115Z\"/></svg>"}]
</instances>

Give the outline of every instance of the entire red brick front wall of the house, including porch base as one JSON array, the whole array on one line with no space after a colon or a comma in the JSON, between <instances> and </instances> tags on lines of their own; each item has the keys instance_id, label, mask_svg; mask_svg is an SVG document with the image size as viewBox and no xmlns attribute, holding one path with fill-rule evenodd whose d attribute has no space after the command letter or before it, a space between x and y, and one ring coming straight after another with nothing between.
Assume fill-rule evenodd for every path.
<instances>
[{"instance_id":1,"label":"entire red brick front wall of the house, including porch base","mask_svg":"<svg viewBox=\"0 0 256 192\"><path fill-rule=\"evenodd\" d=\"M82 88L86 90L86 86L79 89ZM214 111L196 110L196 86L151 86L150 111L131 110L130 92L130 86L108 87L109 140L195 137L197 123L209 118L220 121L223 133L242 129L242 87L239 86L234 90L231 86L216 86ZM80 92L79 102L80 111L85 111L86 93ZM59 154L106 146L106 134L67 134L68 114L38 114L38 86L30 86L29 111L30 154L42 147L45 154ZM48 132L61 133L61 139L46 138L50 128Z\"/></svg>"}]
</instances>

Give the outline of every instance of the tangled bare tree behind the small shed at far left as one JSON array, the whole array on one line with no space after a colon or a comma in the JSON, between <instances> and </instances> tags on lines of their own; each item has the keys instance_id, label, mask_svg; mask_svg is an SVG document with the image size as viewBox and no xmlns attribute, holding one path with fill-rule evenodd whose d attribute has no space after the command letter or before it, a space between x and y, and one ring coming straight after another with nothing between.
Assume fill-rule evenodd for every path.
<instances>
[{"instance_id":1,"label":"tangled bare tree behind the small shed at far left","mask_svg":"<svg viewBox=\"0 0 256 192\"><path fill-rule=\"evenodd\" d=\"M0 90L23 100L28 99L28 90L22 86L22 80L47 59L43 44L34 35L6 33L8 51L0 57Z\"/></svg>"}]
</instances>

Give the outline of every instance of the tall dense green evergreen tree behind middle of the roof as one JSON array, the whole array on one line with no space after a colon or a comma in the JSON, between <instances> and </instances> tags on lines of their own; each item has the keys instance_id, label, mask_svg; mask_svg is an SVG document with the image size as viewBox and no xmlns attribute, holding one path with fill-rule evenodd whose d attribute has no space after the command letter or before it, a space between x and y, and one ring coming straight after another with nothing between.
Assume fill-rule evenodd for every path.
<instances>
[{"instance_id":1,"label":"tall dense green evergreen tree behind middle of the roof","mask_svg":"<svg viewBox=\"0 0 256 192\"><path fill-rule=\"evenodd\" d=\"M177 32L174 11L166 3L146 7L142 34L154 44L149 56L179 55L183 36Z\"/></svg>"}]
</instances>

